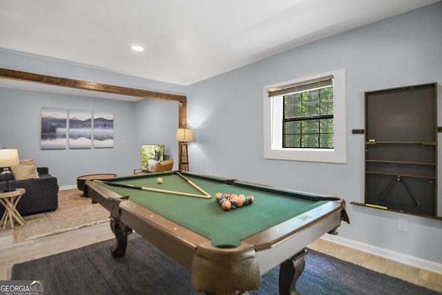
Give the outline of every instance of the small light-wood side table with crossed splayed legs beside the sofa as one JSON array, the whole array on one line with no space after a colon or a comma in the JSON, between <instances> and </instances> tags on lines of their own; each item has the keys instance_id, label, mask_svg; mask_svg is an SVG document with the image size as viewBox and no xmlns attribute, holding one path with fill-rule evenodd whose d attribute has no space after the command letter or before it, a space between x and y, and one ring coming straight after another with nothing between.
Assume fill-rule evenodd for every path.
<instances>
[{"instance_id":1,"label":"small light-wood side table with crossed splayed legs beside the sofa","mask_svg":"<svg viewBox=\"0 0 442 295\"><path fill-rule=\"evenodd\" d=\"M16 208L17 203L25 192L25 189L16 189L15 191L0 193L0 203L6 208L6 211L0 220L0 227L3 229L8 225L8 222L12 229L14 228L14 221L19 222L20 225L25 224L25 220L23 220L23 217L21 217Z\"/></svg>"}]
</instances>

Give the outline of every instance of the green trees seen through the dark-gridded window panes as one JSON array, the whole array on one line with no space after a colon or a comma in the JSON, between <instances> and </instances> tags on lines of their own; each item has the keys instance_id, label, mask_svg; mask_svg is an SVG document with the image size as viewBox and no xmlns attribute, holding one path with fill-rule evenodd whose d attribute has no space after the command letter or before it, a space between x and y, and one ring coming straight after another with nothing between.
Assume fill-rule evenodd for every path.
<instances>
[{"instance_id":1,"label":"green trees seen through the dark-gridded window panes","mask_svg":"<svg viewBox=\"0 0 442 295\"><path fill-rule=\"evenodd\" d=\"M333 86L284 95L282 146L333 149Z\"/></svg>"}]
</instances>

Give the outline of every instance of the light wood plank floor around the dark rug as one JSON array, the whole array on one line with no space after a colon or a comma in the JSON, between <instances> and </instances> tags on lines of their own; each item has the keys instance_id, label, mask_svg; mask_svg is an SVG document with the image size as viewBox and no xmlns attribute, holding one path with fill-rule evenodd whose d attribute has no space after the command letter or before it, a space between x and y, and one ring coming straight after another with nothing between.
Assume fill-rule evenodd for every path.
<instances>
[{"instance_id":1,"label":"light wood plank floor around the dark rug","mask_svg":"<svg viewBox=\"0 0 442 295\"><path fill-rule=\"evenodd\" d=\"M12 243L12 232L12 229L0 230L0 280L10 279L12 265L16 263L58 254L114 237L108 222L15 244ZM308 247L442 293L442 274L401 265L392 260L367 254L322 238L311 243Z\"/></svg>"}]
</instances>

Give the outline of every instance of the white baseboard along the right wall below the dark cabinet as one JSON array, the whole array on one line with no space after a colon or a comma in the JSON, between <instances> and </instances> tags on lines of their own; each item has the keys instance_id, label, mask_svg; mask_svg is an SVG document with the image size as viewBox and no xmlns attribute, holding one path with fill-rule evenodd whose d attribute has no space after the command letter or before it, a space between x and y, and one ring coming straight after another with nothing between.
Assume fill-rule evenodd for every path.
<instances>
[{"instance_id":1,"label":"white baseboard along the right wall below the dark cabinet","mask_svg":"<svg viewBox=\"0 0 442 295\"><path fill-rule=\"evenodd\" d=\"M431 260L425 260L423 258L402 254L400 252L383 249L381 247L372 246L369 244L365 244L363 242L358 242L355 240L349 240L347 238L343 238L340 236L333 236L330 234L325 234L322 236L324 240L328 240L330 242L336 242L337 244L354 248L360 251L365 251L370 254L374 254L377 256L381 256L383 258L387 258L397 263L402 263L404 265L410 265L412 267L418 267L420 269L427 269L431 272L436 272L442 274L442 263L435 263Z\"/></svg>"}]
</instances>

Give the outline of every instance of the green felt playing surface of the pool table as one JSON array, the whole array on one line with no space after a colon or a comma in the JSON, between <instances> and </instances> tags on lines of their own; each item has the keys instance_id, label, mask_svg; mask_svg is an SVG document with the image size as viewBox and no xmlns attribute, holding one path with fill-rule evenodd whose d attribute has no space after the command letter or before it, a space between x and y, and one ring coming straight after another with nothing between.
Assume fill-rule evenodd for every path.
<instances>
[{"instance_id":1,"label":"green felt playing surface of the pool table","mask_svg":"<svg viewBox=\"0 0 442 295\"><path fill-rule=\"evenodd\" d=\"M157 183L159 177L163 180L161 184ZM124 198L209 238L215 247L236 247L244 238L294 216L302 215L302 213L327 202L323 196L311 193L275 190L256 184L231 182L221 178L202 178L200 175L189 173L185 177L209 193L212 198L107 187L121 194ZM195 187L174 173L113 178L110 182L202 195ZM246 196L251 194L255 198L255 202L248 206L224 211L214 198L217 192L237 193L238 195L242 193Z\"/></svg>"}]
</instances>

